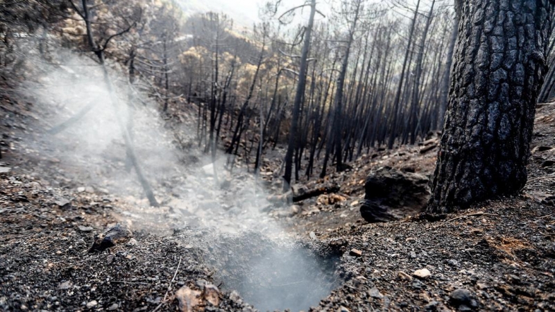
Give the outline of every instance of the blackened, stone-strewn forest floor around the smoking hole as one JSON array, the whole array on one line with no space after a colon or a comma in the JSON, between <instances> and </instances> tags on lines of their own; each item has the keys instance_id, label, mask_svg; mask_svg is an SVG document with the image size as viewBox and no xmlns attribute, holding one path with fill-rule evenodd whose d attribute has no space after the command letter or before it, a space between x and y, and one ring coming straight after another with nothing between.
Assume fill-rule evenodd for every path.
<instances>
[{"instance_id":1,"label":"blackened, stone-strewn forest floor around the smoking hole","mask_svg":"<svg viewBox=\"0 0 555 312\"><path fill-rule=\"evenodd\" d=\"M311 277L333 290L310 311L555 311L555 178L548 178L555 175L554 104L538 107L529 183L519 196L454 214L368 224L358 210L368 172L392 166L431 175L437 152L420 153L418 146L370 150L350 163L351 170L307 183L339 184L333 199L327 194L291 211L268 209L268 220L278 220L292 243L270 232L227 234L217 224L179 227L171 209L149 214L153 223L168 225L164 230L134 227L135 201L96 186L78 189L78 177L64 175L69 168L60 173L59 159L33 156L20 139L41 131L33 105L3 98L0 113L0 168L11 168L0 173L2 311L176 311L179 288L202 290L207 283L220 286L218 304L201 298L194 309L250 311L253 302L241 295L257 287L242 285L239 277L253 259L279 259L288 250L306 250L332 270ZM268 171L273 166L266 164ZM265 178L272 185L273 175ZM117 222L130 225L134 240L90 253L94 235ZM285 265L296 263L293 257ZM412 276L422 268L429 277ZM262 276L255 285L268 288L275 281ZM238 293L234 287L242 288ZM469 291L463 304L450 300L458 288ZM272 291L265 294L272 300Z\"/></svg>"}]
</instances>

